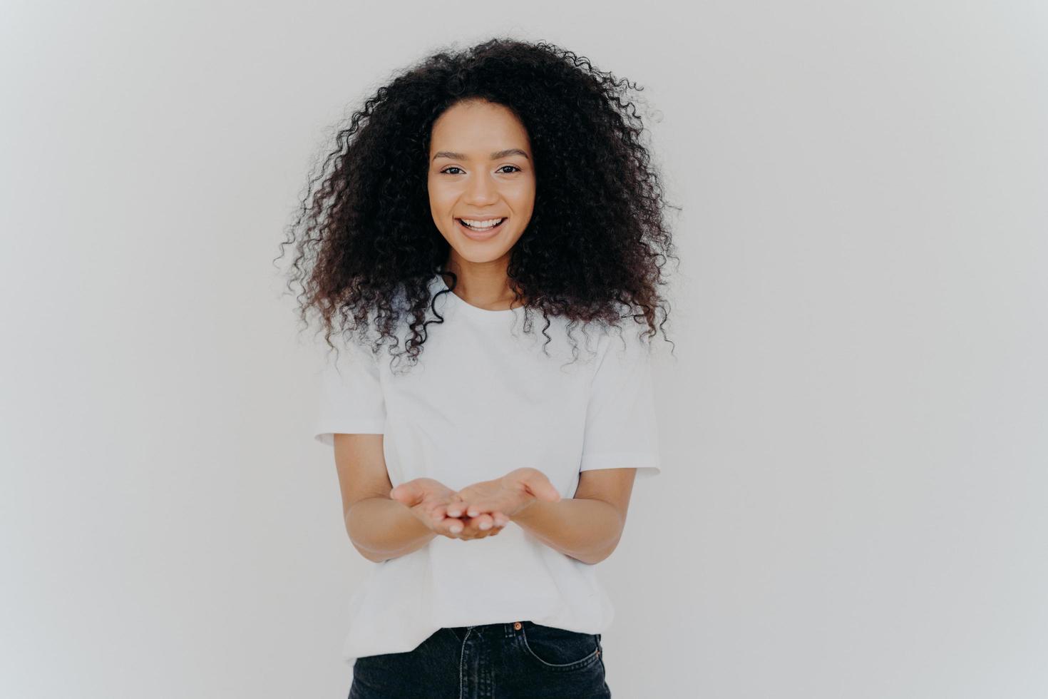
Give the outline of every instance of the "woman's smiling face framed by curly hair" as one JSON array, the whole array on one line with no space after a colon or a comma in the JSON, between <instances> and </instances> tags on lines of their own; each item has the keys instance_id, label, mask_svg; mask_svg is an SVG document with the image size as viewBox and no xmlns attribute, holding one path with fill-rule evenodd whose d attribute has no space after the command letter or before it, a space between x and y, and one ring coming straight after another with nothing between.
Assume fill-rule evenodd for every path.
<instances>
[{"instance_id":1,"label":"woman's smiling face framed by curly hair","mask_svg":"<svg viewBox=\"0 0 1048 699\"><path fill-rule=\"evenodd\" d=\"M531 220L534 189L527 131L505 107L460 102L434 123L430 211L453 254L476 263L507 256Z\"/></svg>"}]
</instances>

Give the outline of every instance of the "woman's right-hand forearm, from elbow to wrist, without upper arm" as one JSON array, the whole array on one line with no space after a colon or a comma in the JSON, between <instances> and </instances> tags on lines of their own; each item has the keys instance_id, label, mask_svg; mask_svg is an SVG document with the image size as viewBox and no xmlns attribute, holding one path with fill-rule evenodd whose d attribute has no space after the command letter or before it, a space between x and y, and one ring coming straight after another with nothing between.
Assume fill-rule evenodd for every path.
<instances>
[{"instance_id":1,"label":"woman's right-hand forearm, from elbow to wrist, without upper arm","mask_svg":"<svg viewBox=\"0 0 1048 699\"><path fill-rule=\"evenodd\" d=\"M603 500L536 500L509 518L539 541L583 563L604 561L618 545L626 522Z\"/></svg>"}]
</instances>

